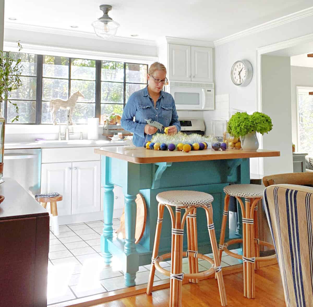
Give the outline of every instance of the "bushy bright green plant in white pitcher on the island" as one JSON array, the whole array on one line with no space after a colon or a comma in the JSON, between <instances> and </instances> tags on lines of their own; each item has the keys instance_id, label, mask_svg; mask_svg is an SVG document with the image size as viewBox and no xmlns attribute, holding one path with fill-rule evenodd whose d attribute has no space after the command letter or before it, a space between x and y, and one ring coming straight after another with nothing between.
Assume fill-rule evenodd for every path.
<instances>
[{"instance_id":1,"label":"bushy bright green plant in white pitcher on the island","mask_svg":"<svg viewBox=\"0 0 313 307\"><path fill-rule=\"evenodd\" d=\"M263 135L272 128L271 118L260 112L254 112L252 115L246 112L237 112L227 124L228 133L235 138L240 137L241 148L248 151L256 151L259 148L257 132Z\"/></svg>"}]
</instances>

